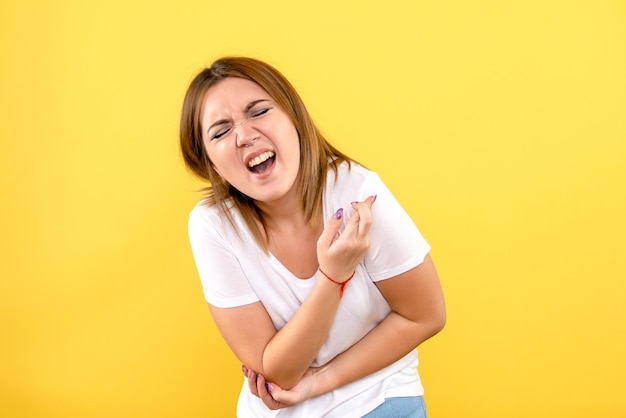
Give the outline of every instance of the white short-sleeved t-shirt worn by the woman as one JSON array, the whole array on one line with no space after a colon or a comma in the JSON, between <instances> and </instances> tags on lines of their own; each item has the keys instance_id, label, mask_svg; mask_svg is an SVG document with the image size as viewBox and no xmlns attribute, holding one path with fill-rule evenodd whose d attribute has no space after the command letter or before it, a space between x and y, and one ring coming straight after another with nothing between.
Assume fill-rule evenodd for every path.
<instances>
[{"instance_id":1,"label":"white short-sleeved t-shirt worn by the woman","mask_svg":"<svg viewBox=\"0 0 626 418\"><path fill-rule=\"evenodd\" d=\"M335 181L337 177L337 181ZM312 366L321 366L365 336L390 312L374 282L418 266L430 251L417 227L377 174L352 164L329 170L323 199L324 220L339 208L344 219L353 213L351 202L377 195L369 231L371 246L346 286L335 321ZM237 232L222 219L216 206L200 202L189 216L189 237L206 300L220 308L261 301L277 330L294 315L318 280L298 279L271 254L265 254L238 212ZM342 227L343 228L343 227ZM309 399L299 405L269 410L244 382L237 404L238 417L360 417L386 397L420 396L417 351L378 372Z\"/></svg>"}]
</instances>

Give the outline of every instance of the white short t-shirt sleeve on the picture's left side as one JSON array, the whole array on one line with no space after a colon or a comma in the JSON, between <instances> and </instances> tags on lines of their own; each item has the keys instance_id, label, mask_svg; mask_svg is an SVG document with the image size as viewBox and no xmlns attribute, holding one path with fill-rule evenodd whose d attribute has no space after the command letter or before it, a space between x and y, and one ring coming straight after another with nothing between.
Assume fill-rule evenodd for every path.
<instances>
[{"instance_id":1,"label":"white short t-shirt sleeve on the picture's left side","mask_svg":"<svg viewBox=\"0 0 626 418\"><path fill-rule=\"evenodd\" d=\"M188 231L206 301L219 308L257 302L217 209L197 205L189 214Z\"/></svg>"}]
</instances>

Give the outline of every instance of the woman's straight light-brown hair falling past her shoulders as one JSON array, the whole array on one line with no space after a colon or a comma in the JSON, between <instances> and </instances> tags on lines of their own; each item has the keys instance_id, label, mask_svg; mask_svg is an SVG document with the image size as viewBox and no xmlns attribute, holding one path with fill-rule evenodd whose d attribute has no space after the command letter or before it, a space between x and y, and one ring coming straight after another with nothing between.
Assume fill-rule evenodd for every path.
<instances>
[{"instance_id":1,"label":"woman's straight light-brown hair falling past her shoulders","mask_svg":"<svg viewBox=\"0 0 626 418\"><path fill-rule=\"evenodd\" d=\"M180 121L180 149L186 166L192 173L207 180L204 188L206 203L217 205L220 213L233 223L229 210L232 204L242 215L255 240L267 251L269 235L263 214L254 201L224 181L209 161L202 141L201 111L204 97L212 86L228 77L250 80L263 88L289 116L300 142L300 172L298 190L302 197L305 218L319 226L326 173L329 167L353 159L333 147L315 126L300 95L275 68L254 58L224 57L203 69L191 82L183 102ZM259 228L258 225L262 225ZM233 223L234 225L234 223Z\"/></svg>"}]
</instances>

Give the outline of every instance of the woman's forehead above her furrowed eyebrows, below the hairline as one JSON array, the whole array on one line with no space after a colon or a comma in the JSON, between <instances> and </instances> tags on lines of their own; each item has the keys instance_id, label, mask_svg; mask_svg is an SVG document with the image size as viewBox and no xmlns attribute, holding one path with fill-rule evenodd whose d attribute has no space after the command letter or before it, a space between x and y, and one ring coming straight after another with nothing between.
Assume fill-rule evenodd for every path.
<instances>
[{"instance_id":1,"label":"woman's forehead above her furrowed eyebrows, below the hairline","mask_svg":"<svg viewBox=\"0 0 626 418\"><path fill-rule=\"evenodd\" d=\"M244 78L229 77L209 88L202 102L203 123L241 113L255 100L272 100L261 86Z\"/></svg>"}]
</instances>

